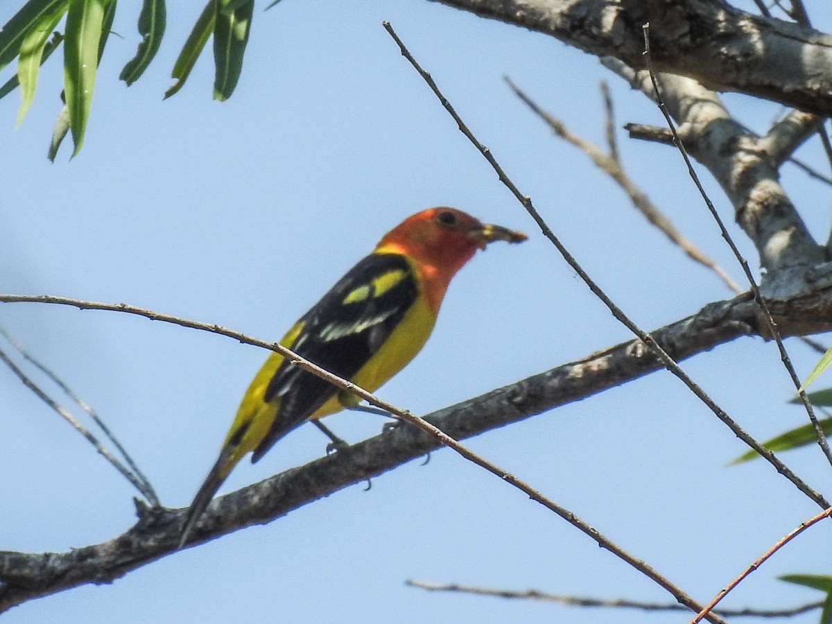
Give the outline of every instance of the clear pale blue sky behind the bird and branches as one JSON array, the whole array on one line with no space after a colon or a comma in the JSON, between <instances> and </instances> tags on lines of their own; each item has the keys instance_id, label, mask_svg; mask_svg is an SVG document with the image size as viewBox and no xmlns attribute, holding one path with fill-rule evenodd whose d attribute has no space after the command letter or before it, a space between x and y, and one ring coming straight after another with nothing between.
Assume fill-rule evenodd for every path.
<instances>
[{"instance_id":1,"label":"clear pale blue sky behind the bird and branches","mask_svg":"<svg viewBox=\"0 0 832 624\"><path fill-rule=\"evenodd\" d=\"M0 7L0 22L18 3ZM432 339L379 391L383 399L428 414L629 339L400 56L385 19L562 242L642 328L694 314L730 291L647 225L586 156L554 138L503 76L598 143L598 84L606 79L631 176L740 280L681 159L621 130L630 121L661 126L660 112L596 57L434 2L286 0L268 12L265 3L255 7L244 71L228 102L210 99L210 44L182 91L162 102L201 10L170 5L156 61L127 89L117 75L136 50L138 7L121 3L85 145L72 161L68 140L54 164L46 159L61 107L57 54L17 130L19 96L0 100L2 290L125 302L273 340L385 231L418 210L448 205L530 238L492 245L461 271ZM807 6L828 32L825 5ZM725 100L756 131L783 112L749 97ZM798 156L825 171L817 140ZM825 240L829 188L794 166L782 173L810 230ZM756 266L730 204L702 176ZM97 409L169 507L191 502L266 357L231 339L126 314L3 304L0 324ZM805 375L816 354L795 340L787 346ZM793 389L773 344L738 339L684 368L758 439L805 421L786 404ZM0 369L0 397L0 549L63 552L131 527L136 492L121 475L7 369ZM327 423L351 441L381 427L379 418L356 413ZM466 444L703 602L818 511L767 463L726 467L744 445L666 372ZM220 492L308 462L324 446L315 428L299 428L260 463L241 462ZM830 467L818 449L782 458L830 495ZM375 478L369 492L346 488L111 585L28 602L3 622L690 619L406 587L417 579L672 602L567 522L455 453L441 450L420 463ZM776 577L832 573L826 524L779 552L725 606L819 599Z\"/></svg>"}]
</instances>

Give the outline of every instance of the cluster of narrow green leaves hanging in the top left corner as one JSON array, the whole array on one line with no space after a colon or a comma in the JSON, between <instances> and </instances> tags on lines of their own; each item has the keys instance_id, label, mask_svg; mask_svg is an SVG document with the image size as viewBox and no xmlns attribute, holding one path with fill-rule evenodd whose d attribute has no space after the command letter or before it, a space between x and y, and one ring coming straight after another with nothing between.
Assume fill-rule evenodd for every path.
<instances>
[{"instance_id":1,"label":"cluster of narrow green leaves hanging in the top left corner","mask_svg":"<svg viewBox=\"0 0 832 624\"><path fill-rule=\"evenodd\" d=\"M67 133L72 134L72 156L81 150L98 64L111 32L116 4L117 0L29 0L0 29L0 70L17 58L17 73L0 87L0 97L20 87L18 125L32 105L40 67L63 44L64 106L52 132L50 160L55 159ZM171 72L174 83L165 97L171 97L185 85L213 35L214 97L227 100L240 80L253 13L254 0L208 0L176 58ZM156 57L165 26L165 0L143 0L137 23L141 40L136 55L126 62L119 75L128 87Z\"/></svg>"}]
</instances>

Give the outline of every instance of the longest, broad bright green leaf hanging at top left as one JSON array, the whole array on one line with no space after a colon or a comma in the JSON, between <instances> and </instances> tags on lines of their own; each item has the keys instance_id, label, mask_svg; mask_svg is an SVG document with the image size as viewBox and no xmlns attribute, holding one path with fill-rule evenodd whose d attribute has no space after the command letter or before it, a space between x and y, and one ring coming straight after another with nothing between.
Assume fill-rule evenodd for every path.
<instances>
[{"instance_id":1,"label":"longest, broad bright green leaf hanging at top left","mask_svg":"<svg viewBox=\"0 0 832 624\"><path fill-rule=\"evenodd\" d=\"M75 144L72 156L81 151L87 131L108 4L108 0L69 0L63 45L63 90Z\"/></svg>"}]
</instances>

